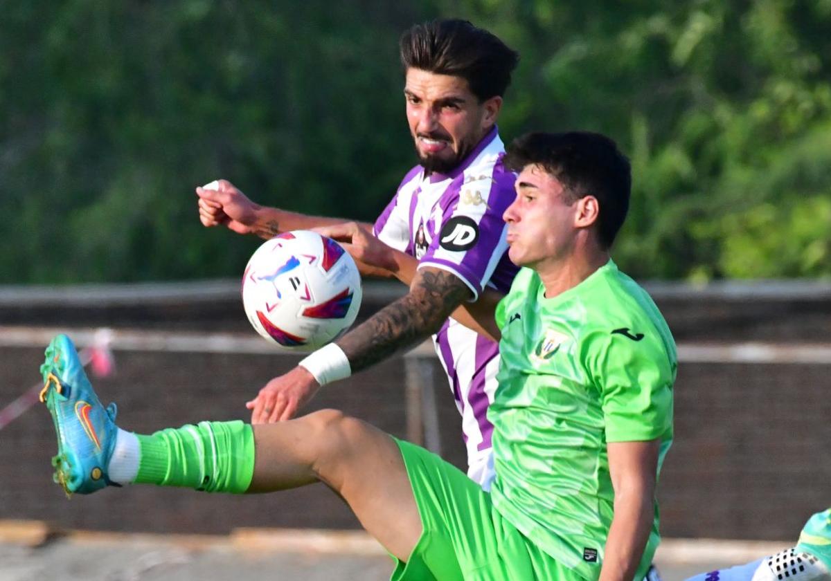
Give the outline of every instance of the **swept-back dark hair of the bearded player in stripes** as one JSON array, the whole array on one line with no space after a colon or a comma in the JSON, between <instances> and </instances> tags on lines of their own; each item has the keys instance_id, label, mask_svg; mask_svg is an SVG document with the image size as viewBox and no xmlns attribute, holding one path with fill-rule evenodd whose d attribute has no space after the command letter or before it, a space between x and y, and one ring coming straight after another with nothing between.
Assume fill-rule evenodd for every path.
<instances>
[{"instance_id":1,"label":"swept-back dark hair of the bearded player in stripes","mask_svg":"<svg viewBox=\"0 0 831 581\"><path fill-rule=\"evenodd\" d=\"M401 35L401 64L439 75L460 76L479 102L503 95L519 53L466 20L416 24Z\"/></svg>"}]
</instances>

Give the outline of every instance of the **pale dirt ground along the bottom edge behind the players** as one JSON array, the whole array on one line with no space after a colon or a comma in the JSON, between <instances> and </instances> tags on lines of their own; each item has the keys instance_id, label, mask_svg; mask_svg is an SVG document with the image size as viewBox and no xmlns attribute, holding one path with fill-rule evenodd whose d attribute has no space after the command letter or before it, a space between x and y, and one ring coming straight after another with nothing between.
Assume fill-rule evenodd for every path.
<instances>
[{"instance_id":1,"label":"pale dirt ground along the bottom edge behind the players","mask_svg":"<svg viewBox=\"0 0 831 581\"><path fill-rule=\"evenodd\" d=\"M389 579L392 561L369 537L357 531L333 535L296 530L227 536L74 533L39 544L0 542L0 581ZM786 546L667 540L655 562L664 581L682 581Z\"/></svg>"}]
</instances>

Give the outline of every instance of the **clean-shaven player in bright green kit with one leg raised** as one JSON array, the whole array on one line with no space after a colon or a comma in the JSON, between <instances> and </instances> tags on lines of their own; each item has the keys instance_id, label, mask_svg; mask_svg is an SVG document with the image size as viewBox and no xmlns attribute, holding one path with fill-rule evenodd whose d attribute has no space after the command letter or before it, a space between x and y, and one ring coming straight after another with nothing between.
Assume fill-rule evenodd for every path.
<instances>
[{"instance_id":1,"label":"clean-shaven player in bright green kit with one leg raised","mask_svg":"<svg viewBox=\"0 0 831 581\"><path fill-rule=\"evenodd\" d=\"M42 366L57 481L78 493L323 481L396 559L393 579L642 579L658 541L676 353L652 300L608 254L627 211L629 164L588 133L529 134L508 159L519 171L504 212L510 257L528 268L495 317L477 303L468 321L501 336L491 494L423 448L332 410L125 432L65 335ZM366 244L367 256L395 253Z\"/></svg>"}]
</instances>

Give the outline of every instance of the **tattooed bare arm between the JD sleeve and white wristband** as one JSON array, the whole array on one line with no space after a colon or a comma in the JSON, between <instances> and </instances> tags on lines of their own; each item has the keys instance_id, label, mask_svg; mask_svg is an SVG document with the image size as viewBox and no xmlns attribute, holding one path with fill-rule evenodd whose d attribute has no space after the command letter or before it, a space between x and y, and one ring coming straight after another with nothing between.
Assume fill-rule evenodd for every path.
<instances>
[{"instance_id":1,"label":"tattooed bare arm between the JD sleeve and white wristband","mask_svg":"<svg viewBox=\"0 0 831 581\"><path fill-rule=\"evenodd\" d=\"M347 355L352 373L366 369L435 333L468 298L470 289L458 276L435 268L422 269L409 293L372 315L337 344Z\"/></svg>"}]
</instances>

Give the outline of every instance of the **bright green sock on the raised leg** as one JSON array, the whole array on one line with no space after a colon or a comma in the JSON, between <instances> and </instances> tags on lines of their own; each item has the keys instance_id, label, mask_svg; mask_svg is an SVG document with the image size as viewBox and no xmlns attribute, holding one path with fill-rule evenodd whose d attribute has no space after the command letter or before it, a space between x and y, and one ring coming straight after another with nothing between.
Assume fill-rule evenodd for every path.
<instances>
[{"instance_id":1,"label":"bright green sock on the raised leg","mask_svg":"<svg viewBox=\"0 0 831 581\"><path fill-rule=\"evenodd\" d=\"M254 473L254 435L247 423L199 422L139 439L135 483L243 494Z\"/></svg>"}]
</instances>

